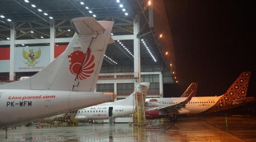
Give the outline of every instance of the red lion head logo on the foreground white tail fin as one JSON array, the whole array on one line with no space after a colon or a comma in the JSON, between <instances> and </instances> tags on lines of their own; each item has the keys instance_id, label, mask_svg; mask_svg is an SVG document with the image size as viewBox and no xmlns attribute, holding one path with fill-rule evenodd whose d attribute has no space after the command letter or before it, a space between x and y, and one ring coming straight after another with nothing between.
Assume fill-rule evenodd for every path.
<instances>
[{"instance_id":1,"label":"red lion head logo on the foreground white tail fin","mask_svg":"<svg viewBox=\"0 0 256 142\"><path fill-rule=\"evenodd\" d=\"M72 74L77 75L77 79L79 80L90 77L94 71L94 56L91 55L91 52L91 49L88 48L86 57L83 51L74 51L73 53L68 55L68 58L71 58L71 60L69 61L71 63L69 65L69 70Z\"/></svg>"}]
</instances>

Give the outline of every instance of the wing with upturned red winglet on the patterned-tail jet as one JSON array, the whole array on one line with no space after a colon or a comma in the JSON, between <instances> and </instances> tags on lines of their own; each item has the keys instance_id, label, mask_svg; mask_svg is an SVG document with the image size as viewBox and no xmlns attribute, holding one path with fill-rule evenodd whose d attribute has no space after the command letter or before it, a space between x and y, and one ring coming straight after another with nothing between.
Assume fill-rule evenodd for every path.
<instances>
[{"instance_id":1,"label":"wing with upturned red winglet on the patterned-tail jet","mask_svg":"<svg viewBox=\"0 0 256 142\"><path fill-rule=\"evenodd\" d=\"M177 104L172 104L172 105L168 105L168 106L164 106L162 108L153 108L153 109L149 109L149 110L159 110L162 113L169 113L169 112L173 112L173 113L179 113L179 110L181 108L186 108L186 104L191 100L192 97L195 96L195 90L193 90L187 97L187 99L185 101L182 101L180 103Z\"/></svg>"}]
</instances>

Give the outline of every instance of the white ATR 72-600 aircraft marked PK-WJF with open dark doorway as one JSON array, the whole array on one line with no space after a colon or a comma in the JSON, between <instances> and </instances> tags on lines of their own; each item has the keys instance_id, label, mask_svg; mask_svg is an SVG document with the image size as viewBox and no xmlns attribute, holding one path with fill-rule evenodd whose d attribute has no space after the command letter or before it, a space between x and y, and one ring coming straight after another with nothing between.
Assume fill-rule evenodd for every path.
<instances>
[{"instance_id":1,"label":"white ATR 72-600 aircraft marked PK-WJF with open dark doorway","mask_svg":"<svg viewBox=\"0 0 256 142\"><path fill-rule=\"evenodd\" d=\"M144 93L146 98L149 84L150 83L148 82L140 83L139 85L137 85L134 92L123 100L118 100L115 102L107 102L107 103L99 104L97 106L80 109L77 111L75 118L79 121L86 121L86 120L104 120L104 119L108 119L111 116L113 116L114 118L117 118L121 116L130 115L133 113L135 108L136 92Z\"/></svg>"}]
</instances>

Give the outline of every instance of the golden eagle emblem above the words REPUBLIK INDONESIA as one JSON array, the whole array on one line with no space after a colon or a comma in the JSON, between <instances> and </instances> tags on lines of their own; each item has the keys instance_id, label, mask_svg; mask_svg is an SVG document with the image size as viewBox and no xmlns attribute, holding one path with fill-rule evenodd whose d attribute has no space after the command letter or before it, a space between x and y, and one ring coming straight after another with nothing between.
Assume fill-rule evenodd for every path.
<instances>
[{"instance_id":1,"label":"golden eagle emblem above the words REPUBLIK INDONESIA","mask_svg":"<svg viewBox=\"0 0 256 142\"><path fill-rule=\"evenodd\" d=\"M22 56L25 60L27 60L23 61L23 63L27 64L29 67L36 66L36 64L40 62L40 60L36 62L36 59L40 58L41 49L39 48L39 50L34 53L33 49L29 49L28 52L26 52L25 48L23 48Z\"/></svg>"}]
</instances>

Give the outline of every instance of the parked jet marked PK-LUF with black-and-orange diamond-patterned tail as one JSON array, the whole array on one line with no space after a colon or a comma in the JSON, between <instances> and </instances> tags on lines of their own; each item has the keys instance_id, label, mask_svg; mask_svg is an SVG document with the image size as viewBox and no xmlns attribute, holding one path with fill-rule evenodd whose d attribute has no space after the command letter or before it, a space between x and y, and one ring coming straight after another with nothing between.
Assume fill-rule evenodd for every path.
<instances>
[{"instance_id":1,"label":"parked jet marked PK-LUF with black-and-orange diamond-patterned tail","mask_svg":"<svg viewBox=\"0 0 256 142\"><path fill-rule=\"evenodd\" d=\"M214 97L186 98L150 98L146 99L147 119L157 119L169 116L172 121L177 120L179 114L196 114L221 111L234 108L255 101L254 97L247 97L247 88L251 72L243 72L226 93Z\"/></svg>"}]
</instances>

